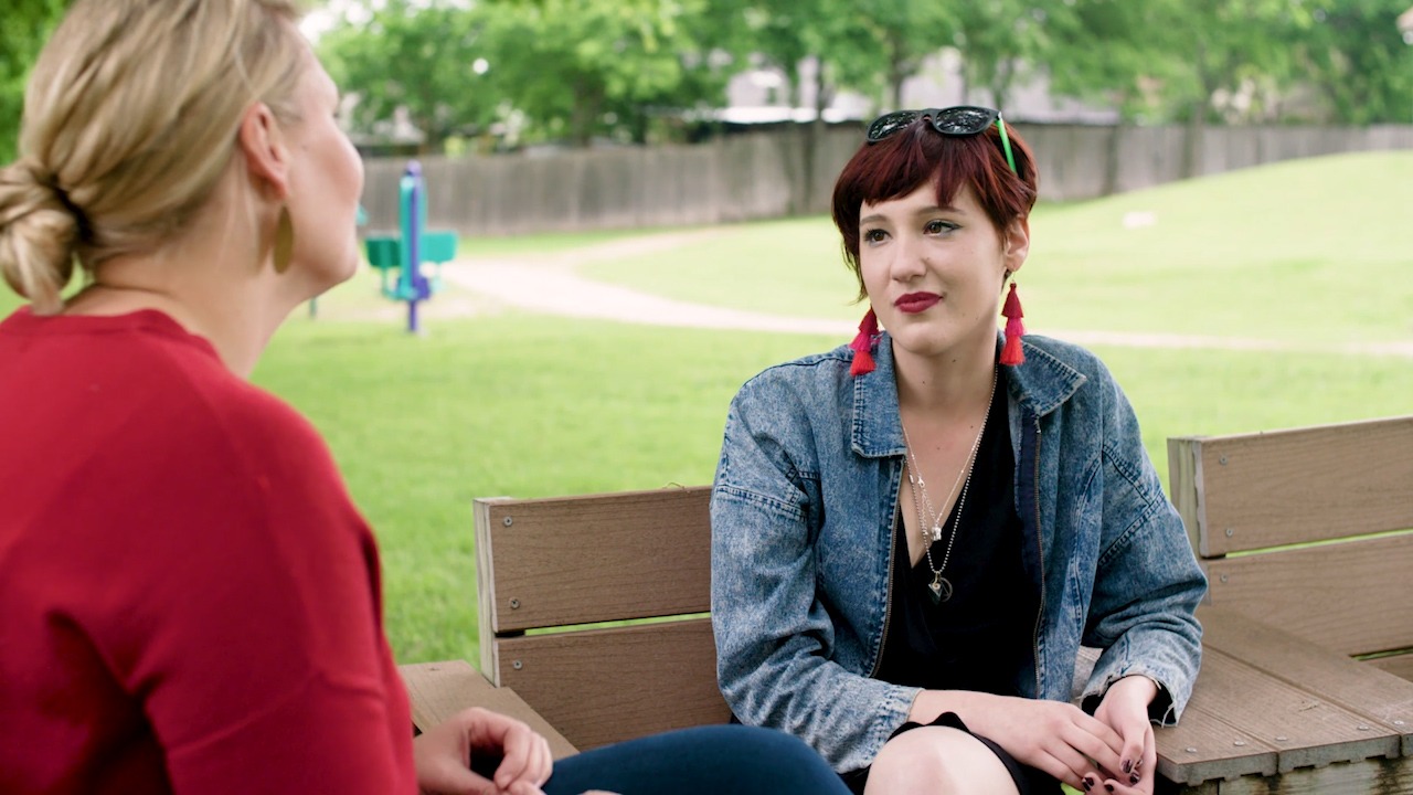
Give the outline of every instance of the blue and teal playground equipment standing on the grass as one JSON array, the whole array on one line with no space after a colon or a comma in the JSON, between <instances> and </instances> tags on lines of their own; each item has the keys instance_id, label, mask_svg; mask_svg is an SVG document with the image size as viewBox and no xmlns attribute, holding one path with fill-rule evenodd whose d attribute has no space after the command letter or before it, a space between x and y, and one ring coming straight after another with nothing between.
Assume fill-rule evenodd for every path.
<instances>
[{"instance_id":1,"label":"blue and teal playground equipment standing on the grass","mask_svg":"<svg viewBox=\"0 0 1413 795\"><path fill-rule=\"evenodd\" d=\"M382 273L383 296L407 301L407 331L417 334L417 304L441 290L441 266L456 256L456 233L427 231L427 188L421 163L407 163L398 194L401 233L369 235L365 245L367 262ZM427 263L434 266L430 277L422 272Z\"/></svg>"}]
</instances>

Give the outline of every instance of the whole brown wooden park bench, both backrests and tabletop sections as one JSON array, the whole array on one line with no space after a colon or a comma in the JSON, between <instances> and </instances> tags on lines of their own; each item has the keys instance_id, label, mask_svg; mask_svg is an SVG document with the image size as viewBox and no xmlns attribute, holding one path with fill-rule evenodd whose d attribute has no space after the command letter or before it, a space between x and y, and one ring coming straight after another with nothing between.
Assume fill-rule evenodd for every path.
<instances>
[{"instance_id":1,"label":"whole brown wooden park bench, both backrests and tabletop sections","mask_svg":"<svg viewBox=\"0 0 1413 795\"><path fill-rule=\"evenodd\" d=\"M1159 792L1413 795L1413 417L1174 439L1169 457L1211 591L1193 699L1157 730ZM497 693L557 755L726 721L708 499L478 499L489 683L404 668L414 703L441 693L422 717ZM653 621L602 625L625 620ZM463 686L438 689L451 669Z\"/></svg>"}]
</instances>

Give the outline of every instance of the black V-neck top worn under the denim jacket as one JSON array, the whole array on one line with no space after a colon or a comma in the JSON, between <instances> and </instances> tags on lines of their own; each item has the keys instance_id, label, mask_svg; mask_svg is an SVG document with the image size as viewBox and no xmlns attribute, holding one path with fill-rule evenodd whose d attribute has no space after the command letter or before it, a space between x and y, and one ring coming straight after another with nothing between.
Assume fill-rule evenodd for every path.
<instances>
[{"instance_id":1,"label":"black V-neck top worn under the denim jacket","mask_svg":"<svg viewBox=\"0 0 1413 795\"><path fill-rule=\"evenodd\" d=\"M1034 654L1040 590L1022 563L1005 371L996 378L952 556L942 570L952 584L950 600L934 603L927 556L909 566L901 516L896 522L893 608L877 672L885 682L1015 696L1016 679ZM941 540L933 543L934 566L942 563L957 522L954 505Z\"/></svg>"}]
</instances>

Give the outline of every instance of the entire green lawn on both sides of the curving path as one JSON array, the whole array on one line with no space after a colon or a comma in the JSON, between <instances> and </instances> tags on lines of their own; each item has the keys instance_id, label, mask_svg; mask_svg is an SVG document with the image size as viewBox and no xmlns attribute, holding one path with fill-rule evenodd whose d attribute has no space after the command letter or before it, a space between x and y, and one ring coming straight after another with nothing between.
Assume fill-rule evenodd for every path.
<instances>
[{"instance_id":1,"label":"entire green lawn on both sides of the curving path","mask_svg":"<svg viewBox=\"0 0 1413 795\"><path fill-rule=\"evenodd\" d=\"M1260 338L1313 351L1413 341L1402 218L1410 185L1413 153L1383 153L1044 207L1020 279L1027 325ZM1156 224L1125 228L1133 211ZM718 232L584 272L698 303L861 314L827 219ZM463 240L461 253L531 257L620 236ZM14 303L0 297L0 310ZM444 317L458 306L471 317ZM451 287L428 306L424 335L404 325L406 311L379 297L365 269L319 298L318 320L298 310L254 375L326 436L377 532L387 628L403 662L478 661L473 498L706 484L739 385L845 341L550 318ZM1129 393L1163 472L1170 436L1413 409L1406 356L1095 351Z\"/></svg>"}]
</instances>

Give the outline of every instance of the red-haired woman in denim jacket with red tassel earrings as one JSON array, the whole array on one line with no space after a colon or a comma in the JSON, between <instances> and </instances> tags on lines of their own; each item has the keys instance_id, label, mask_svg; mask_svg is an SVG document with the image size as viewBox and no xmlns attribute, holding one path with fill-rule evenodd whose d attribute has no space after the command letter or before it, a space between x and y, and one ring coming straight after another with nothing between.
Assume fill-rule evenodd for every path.
<instances>
[{"instance_id":1,"label":"red-haired woman in denim jacket with red tassel earrings","mask_svg":"<svg viewBox=\"0 0 1413 795\"><path fill-rule=\"evenodd\" d=\"M859 335L731 405L722 693L855 792L1150 794L1152 721L1197 676L1205 579L1133 410L1005 290L1036 195L995 110L875 120L834 191ZM1102 654L1074 706L1081 645Z\"/></svg>"}]
</instances>

